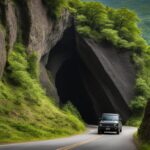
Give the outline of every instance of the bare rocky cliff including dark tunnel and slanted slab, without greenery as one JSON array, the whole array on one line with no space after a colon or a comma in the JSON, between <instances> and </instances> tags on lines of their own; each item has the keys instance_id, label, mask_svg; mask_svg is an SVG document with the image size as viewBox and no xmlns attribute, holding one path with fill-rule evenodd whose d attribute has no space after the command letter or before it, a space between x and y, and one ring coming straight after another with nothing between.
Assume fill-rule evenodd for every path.
<instances>
[{"instance_id":1,"label":"bare rocky cliff including dark tunnel and slanted slab, without greenery","mask_svg":"<svg viewBox=\"0 0 150 150\"><path fill-rule=\"evenodd\" d=\"M127 120L135 78L130 52L83 39L68 11L53 21L41 0L1 1L0 10L0 77L21 41L29 54L37 52L41 85L58 104L71 101L87 123L103 112Z\"/></svg>"}]
</instances>

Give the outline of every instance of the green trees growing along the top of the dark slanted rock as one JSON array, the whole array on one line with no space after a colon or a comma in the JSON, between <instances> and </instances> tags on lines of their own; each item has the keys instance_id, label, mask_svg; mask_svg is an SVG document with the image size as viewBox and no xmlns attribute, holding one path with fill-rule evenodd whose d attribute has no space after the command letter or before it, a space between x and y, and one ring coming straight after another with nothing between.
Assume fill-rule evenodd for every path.
<instances>
[{"instance_id":1,"label":"green trees growing along the top of the dark slanted rock","mask_svg":"<svg viewBox=\"0 0 150 150\"><path fill-rule=\"evenodd\" d=\"M146 48L137 23L139 18L128 9L112 9L99 2L69 1L74 8L77 31L97 42L109 41L117 48L140 53ZM73 10L73 9L71 9Z\"/></svg>"}]
</instances>

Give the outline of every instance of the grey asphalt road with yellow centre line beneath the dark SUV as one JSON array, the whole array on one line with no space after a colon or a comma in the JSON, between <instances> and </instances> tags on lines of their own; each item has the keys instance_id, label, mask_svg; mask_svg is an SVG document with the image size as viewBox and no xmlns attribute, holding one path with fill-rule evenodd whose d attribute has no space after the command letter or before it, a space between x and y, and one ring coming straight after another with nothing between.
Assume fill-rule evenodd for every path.
<instances>
[{"instance_id":1,"label":"grey asphalt road with yellow centre line beneath the dark SUV","mask_svg":"<svg viewBox=\"0 0 150 150\"><path fill-rule=\"evenodd\" d=\"M97 134L96 127L87 133L69 138L22 144L1 145L0 150L136 150L133 133L136 128L123 127L120 135L114 133Z\"/></svg>"}]
</instances>

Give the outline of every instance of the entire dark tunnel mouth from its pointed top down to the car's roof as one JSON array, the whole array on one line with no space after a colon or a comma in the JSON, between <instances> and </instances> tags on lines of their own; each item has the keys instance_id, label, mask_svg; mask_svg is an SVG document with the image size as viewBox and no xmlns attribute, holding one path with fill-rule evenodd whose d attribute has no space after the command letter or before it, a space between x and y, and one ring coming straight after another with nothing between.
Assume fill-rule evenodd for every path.
<instances>
[{"instance_id":1,"label":"entire dark tunnel mouth from its pointed top down to the car's roof","mask_svg":"<svg viewBox=\"0 0 150 150\"><path fill-rule=\"evenodd\" d=\"M101 113L115 110L102 85L80 58L76 44L75 30L70 27L46 55L46 69L54 78L59 104L72 102L86 123L97 124Z\"/></svg>"}]
</instances>

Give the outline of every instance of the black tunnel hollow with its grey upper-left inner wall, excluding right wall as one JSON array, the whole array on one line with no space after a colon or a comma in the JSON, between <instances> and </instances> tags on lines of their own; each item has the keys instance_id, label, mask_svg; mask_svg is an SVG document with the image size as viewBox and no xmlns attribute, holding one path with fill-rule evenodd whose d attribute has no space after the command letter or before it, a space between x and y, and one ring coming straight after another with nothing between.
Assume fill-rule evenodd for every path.
<instances>
[{"instance_id":1,"label":"black tunnel hollow with its grey upper-left inner wall, excluding right wall","mask_svg":"<svg viewBox=\"0 0 150 150\"><path fill-rule=\"evenodd\" d=\"M64 32L62 39L43 59L47 59L46 69L54 78L60 105L70 101L86 123L97 123L93 103L82 84L74 27Z\"/></svg>"}]
</instances>

